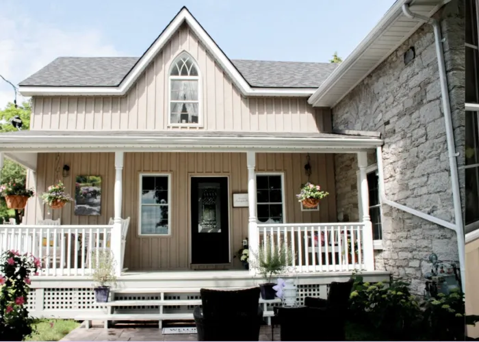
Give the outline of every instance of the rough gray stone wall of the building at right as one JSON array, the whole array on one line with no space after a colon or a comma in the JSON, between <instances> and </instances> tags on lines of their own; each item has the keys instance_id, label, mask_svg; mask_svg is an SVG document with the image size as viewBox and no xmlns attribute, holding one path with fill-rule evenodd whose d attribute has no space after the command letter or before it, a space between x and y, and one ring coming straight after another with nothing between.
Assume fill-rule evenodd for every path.
<instances>
[{"instance_id":1,"label":"rough gray stone wall of the building at right","mask_svg":"<svg viewBox=\"0 0 479 342\"><path fill-rule=\"evenodd\" d=\"M454 0L437 17L445 38L445 61L458 164L464 164L464 18L463 1ZM404 52L415 59L404 64ZM387 60L333 108L333 127L383 134L385 191L389 199L454 222L448 149L441 89L430 25L420 27ZM374 157L370 163L374 163ZM338 212L359 219L357 157L336 155ZM463 173L463 172L462 172ZM460 176L464 181L463 174ZM461 183L463 187L463 183ZM409 279L416 293L424 288L427 259L458 260L454 231L398 209L383 206L383 246L376 268Z\"/></svg>"}]
</instances>

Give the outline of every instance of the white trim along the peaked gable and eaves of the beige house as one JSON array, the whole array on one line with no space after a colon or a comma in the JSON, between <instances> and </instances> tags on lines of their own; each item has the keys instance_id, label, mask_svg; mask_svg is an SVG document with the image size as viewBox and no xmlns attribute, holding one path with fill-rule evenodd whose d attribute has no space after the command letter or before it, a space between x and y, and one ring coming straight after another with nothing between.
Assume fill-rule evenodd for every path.
<instances>
[{"instance_id":1,"label":"white trim along the peaked gable and eaves of the beige house","mask_svg":"<svg viewBox=\"0 0 479 342\"><path fill-rule=\"evenodd\" d=\"M239 88L244 96L311 96L315 92L315 88L252 88L244 79L244 77L233 66L228 57L218 47L216 42L211 39L205 29L196 21L194 16L183 7L180 12L168 24L166 29L153 42L151 47L146 50L140 60L133 66L127 77L122 80L117 87L45 87L45 86L20 86L19 90L23 96L79 96L79 95L124 95L129 88L135 83L136 79L146 69L146 66L153 61L157 53L164 47L164 44L170 40L174 32L179 29L181 24L186 22L192 31L198 36L199 40L205 45L208 51L216 59L216 62L224 68L226 74L231 77L233 83Z\"/></svg>"}]
</instances>

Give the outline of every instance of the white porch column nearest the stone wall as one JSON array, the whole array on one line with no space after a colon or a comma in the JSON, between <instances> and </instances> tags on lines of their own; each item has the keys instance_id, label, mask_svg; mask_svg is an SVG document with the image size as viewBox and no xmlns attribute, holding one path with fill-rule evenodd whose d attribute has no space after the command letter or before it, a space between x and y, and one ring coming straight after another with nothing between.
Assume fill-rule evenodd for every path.
<instances>
[{"instance_id":1,"label":"white porch column nearest the stone wall","mask_svg":"<svg viewBox=\"0 0 479 342\"><path fill-rule=\"evenodd\" d=\"M374 271L374 246L372 240L372 224L370 218L370 194L369 187L367 186L367 153L358 153L358 166L359 166L359 188L361 192L361 213L359 218L365 224L363 230L363 256L364 264L367 271Z\"/></svg>"}]
</instances>

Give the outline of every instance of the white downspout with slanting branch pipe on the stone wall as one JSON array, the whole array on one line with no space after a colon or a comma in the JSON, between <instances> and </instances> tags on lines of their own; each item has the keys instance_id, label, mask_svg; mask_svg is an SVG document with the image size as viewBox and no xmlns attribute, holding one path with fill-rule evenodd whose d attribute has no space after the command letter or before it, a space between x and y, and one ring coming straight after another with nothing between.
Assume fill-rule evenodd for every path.
<instances>
[{"instance_id":1,"label":"white downspout with slanting branch pipe on the stone wall","mask_svg":"<svg viewBox=\"0 0 479 342\"><path fill-rule=\"evenodd\" d=\"M457 235L457 248L459 254L459 267L461 270L461 287L463 293L465 293L465 238L464 238L464 226L463 226L463 213L461 209L461 192L459 189L459 178L457 172L457 162L456 157L458 153L456 153L456 147L454 144L454 131L452 129L452 119L451 119L451 108L450 108L450 100L449 100L449 92L448 92L448 80L446 78L446 71L445 71L445 64L444 64L444 52L442 46L442 35L441 35L441 24L434 18L428 18L426 16L422 16L419 14L414 14L409 10L409 5L404 4L402 5L402 12L408 18L417 19L419 21L423 21L424 23L428 23L432 25L434 29L434 36L435 36L435 45L436 45L436 55L437 55L437 63L439 65L439 81L441 83L441 100L443 105L443 113L445 119L445 134L446 140L448 142L448 157L449 157L449 166L451 172L451 183L452 183L452 198L454 204L454 219L455 224L450 222L435 218L431 215L427 215L415 209L411 209L409 207L405 207L404 205L400 205L399 203L393 202L386 198L385 190L384 190L384 174L383 174L383 154L382 148L378 147L376 149L377 159L378 159L378 176L379 176L379 190L380 196L383 203L390 205L391 207L396 207L413 215L419 216L419 218L423 218L424 220L428 220L430 222L434 222L441 226L445 226L446 228L450 228L456 232Z\"/></svg>"}]
</instances>

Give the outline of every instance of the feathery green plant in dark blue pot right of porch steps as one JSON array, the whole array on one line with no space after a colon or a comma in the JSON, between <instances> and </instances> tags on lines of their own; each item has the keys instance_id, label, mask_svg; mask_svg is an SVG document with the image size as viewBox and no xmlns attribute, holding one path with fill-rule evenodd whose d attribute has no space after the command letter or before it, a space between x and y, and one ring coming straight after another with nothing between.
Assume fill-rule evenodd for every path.
<instances>
[{"instance_id":1,"label":"feathery green plant in dark blue pot right of porch steps","mask_svg":"<svg viewBox=\"0 0 479 342\"><path fill-rule=\"evenodd\" d=\"M257 254L257 269L259 273L267 279L266 283L259 284L261 290L261 298L263 300L272 300L276 296L273 289L274 282L271 278L285 272L287 267L292 263L292 253L285 244L274 246L272 248L271 241L266 241L266 246L261 245Z\"/></svg>"}]
</instances>

